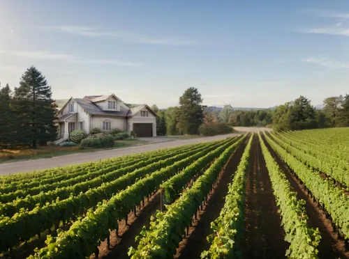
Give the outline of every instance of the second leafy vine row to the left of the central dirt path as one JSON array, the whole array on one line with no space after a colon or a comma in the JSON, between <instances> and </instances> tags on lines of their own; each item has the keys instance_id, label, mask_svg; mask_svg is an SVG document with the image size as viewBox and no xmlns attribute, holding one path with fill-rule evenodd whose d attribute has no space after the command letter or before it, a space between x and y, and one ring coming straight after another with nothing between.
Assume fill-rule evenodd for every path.
<instances>
[{"instance_id":1,"label":"second leafy vine row to the left of the central dirt path","mask_svg":"<svg viewBox=\"0 0 349 259\"><path fill-rule=\"evenodd\" d=\"M149 229L143 228L137 237L137 240L140 240L138 248L129 249L128 254L131 258L173 258L193 214L198 211L219 173L244 139L225 149L190 189L166 207L166 213L158 212L156 217L151 218Z\"/></svg>"}]
</instances>

